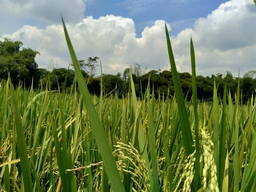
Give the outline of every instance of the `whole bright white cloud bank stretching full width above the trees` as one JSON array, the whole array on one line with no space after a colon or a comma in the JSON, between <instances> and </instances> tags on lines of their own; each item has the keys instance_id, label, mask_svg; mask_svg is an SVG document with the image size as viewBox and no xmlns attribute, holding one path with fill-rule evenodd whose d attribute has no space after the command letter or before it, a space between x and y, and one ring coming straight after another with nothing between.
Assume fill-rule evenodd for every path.
<instances>
[{"instance_id":1,"label":"whole bright white cloud bank stretching full width above the trees","mask_svg":"<svg viewBox=\"0 0 256 192\"><path fill-rule=\"evenodd\" d=\"M64 17L66 20L66 18ZM230 0L221 4L207 17L195 21L193 28L182 30L171 37L177 69L191 71L190 37L192 36L197 74L210 75L229 70L235 75L256 69L256 19L255 5L251 0ZM167 24L169 31L171 27ZM141 38L135 32L134 21L114 15L99 19L87 17L78 23L68 23L67 29L78 59L99 56L103 73L122 72L133 62L148 69L169 69L164 21L157 20L145 27ZM25 47L37 49L40 67L58 58L58 67L71 62L60 24L44 29L23 26L15 33L3 35L23 41Z\"/></svg>"}]
</instances>

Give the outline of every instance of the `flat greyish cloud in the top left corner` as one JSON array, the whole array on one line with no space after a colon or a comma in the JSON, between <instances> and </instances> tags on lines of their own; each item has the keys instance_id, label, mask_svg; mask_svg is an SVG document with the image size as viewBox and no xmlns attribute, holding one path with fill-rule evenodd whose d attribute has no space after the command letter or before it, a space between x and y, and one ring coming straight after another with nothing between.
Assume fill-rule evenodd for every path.
<instances>
[{"instance_id":1,"label":"flat greyish cloud in the top left corner","mask_svg":"<svg viewBox=\"0 0 256 192\"><path fill-rule=\"evenodd\" d=\"M92 3L93 0L87 0ZM83 0L1 0L0 15L38 17L49 22L60 23L60 14L67 22L79 22L83 18Z\"/></svg>"}]
</instances>

